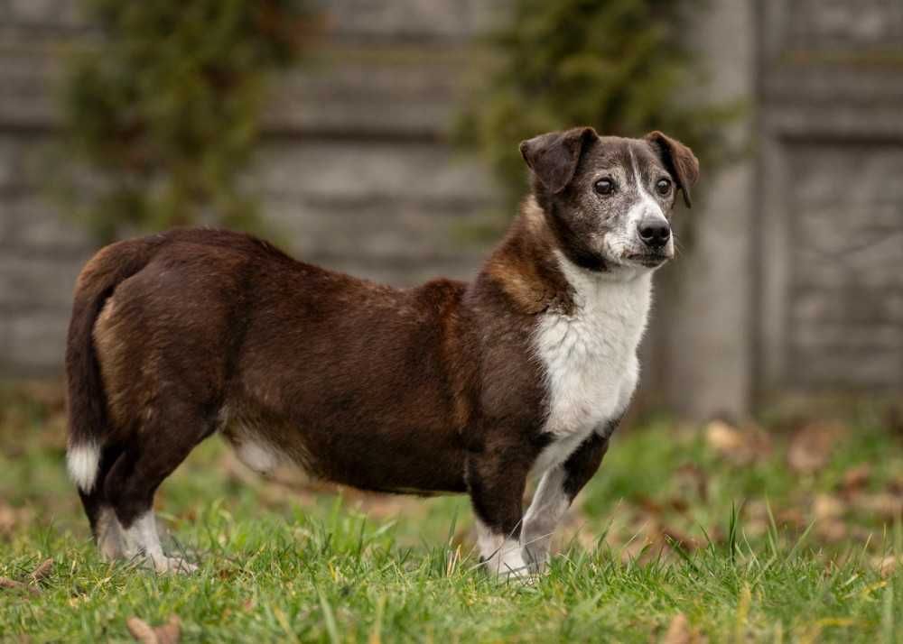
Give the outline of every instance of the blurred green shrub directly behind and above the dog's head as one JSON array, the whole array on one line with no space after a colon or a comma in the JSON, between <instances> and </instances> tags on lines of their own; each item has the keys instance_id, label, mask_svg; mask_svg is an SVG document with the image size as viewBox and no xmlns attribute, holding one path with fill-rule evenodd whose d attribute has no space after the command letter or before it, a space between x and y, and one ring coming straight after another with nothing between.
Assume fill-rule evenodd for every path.
<instances>
[{"instance_id":1,"label":"blurred green shrub directly behind and above the dog's head","mask_svg":"<svg viewBox=\"0 0 903 644\"><path fill-rule=\"evenodd\" d=\"M726 151L723 126L737 106L713 105L685 27L700 0L515 0L513 19L489 37L485 88L461 120L507 190L513 211L526 190L517 143L589 124L600 133L661 130L709 169ZM693 95L693 96L690 96Z\"/></svg>"}]
</instances>

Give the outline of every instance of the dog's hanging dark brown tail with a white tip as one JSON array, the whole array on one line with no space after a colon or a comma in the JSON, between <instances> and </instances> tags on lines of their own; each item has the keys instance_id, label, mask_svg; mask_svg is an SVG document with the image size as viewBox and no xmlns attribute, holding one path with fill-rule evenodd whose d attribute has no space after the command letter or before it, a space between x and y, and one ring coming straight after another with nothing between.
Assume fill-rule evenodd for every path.
<instances>
[{"instance_id":1,"label":"dog's hanging dark brown tail with a white tip","mask_svg":"<svg viewBox=\"0 0 903 644\"><path fill-rule=\"evenodd\" d=\"M163 242L158 235L111 244L88 261L79 274L66 340L69 440L66 463L83 493L98 478L101 449L109 431L107 396L94 346L94 325L116 286L141 271Z\"/></svg>"}]
</instances>

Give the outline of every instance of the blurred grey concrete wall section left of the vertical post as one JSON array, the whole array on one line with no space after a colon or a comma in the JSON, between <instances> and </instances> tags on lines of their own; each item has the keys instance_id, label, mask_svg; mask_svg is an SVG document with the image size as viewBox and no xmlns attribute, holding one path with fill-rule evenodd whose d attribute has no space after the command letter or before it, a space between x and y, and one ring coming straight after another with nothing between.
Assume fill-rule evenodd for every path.
<instances>
[{"instance_id":1,"label":"blurred grey concrete wall section left of the vertical post","mask_svg":"<svg viewBox=\"0 0 903 644\"><path fill-rule=\"evenodd\" d=\"M94 250L48 198L45 144L76 0L0 0L0 373L59 373L71 289ZM248 186L304 260L408 285L472 275L462 241L494 196L446 143L485 3L335 3L317 59L280 79ZM472 236L472 235L471 235Z\"/></svg>"}]
</instances>

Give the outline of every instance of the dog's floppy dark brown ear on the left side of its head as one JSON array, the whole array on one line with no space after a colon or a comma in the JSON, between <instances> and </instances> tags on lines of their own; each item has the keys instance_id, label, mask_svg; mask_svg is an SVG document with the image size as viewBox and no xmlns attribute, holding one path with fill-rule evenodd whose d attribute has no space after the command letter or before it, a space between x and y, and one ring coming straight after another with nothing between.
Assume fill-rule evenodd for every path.
<instances>
[{"instance_id":1,"label":"dog's floppy dark brown ear on the left side of its head","mask_svg":"<svg viewBox=\"0 0 903 644\"><path fill-rule=\"evenodd\" d=\"M591 127L540 134L521 142L520 154L543 186L556 194L573 179L583 147L598 136Z\"/></svg>"}]
</instances>

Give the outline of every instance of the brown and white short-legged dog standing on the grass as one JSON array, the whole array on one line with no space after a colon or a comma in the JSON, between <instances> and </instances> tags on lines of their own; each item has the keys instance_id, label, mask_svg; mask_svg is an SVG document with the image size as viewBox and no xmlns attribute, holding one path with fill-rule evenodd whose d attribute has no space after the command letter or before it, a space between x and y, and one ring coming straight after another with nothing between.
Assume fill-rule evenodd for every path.
<instances>
[{"instance_id":1,"label":"brown and white short-legged dog standing on the grass","mask_svg":"<svg viewBox=\"0 0 903 644\"><path fill-rule=\"evenodd\" d=\"M69 329L68 465L103 555L194 567L163 554L154 492L219 431L263 473L467 492L491 571L542 566L637 384L652 272L699 166L658 132L520 151L533 195L470 283L397 290L216 230L95 255Z\"/></svg>"}]
</instances>

